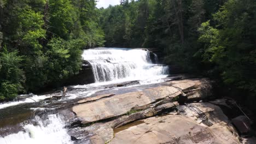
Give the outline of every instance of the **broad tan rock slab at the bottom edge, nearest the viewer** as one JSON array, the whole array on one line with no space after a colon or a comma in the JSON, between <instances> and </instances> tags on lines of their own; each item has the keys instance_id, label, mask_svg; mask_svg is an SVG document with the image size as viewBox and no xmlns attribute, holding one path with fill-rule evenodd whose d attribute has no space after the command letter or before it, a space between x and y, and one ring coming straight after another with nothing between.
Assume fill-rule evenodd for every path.
<instances>
[{"instance_id":1,"label":"broad tan rock slab at the bottom edge, nearest the viewer","mask_svg":"<svg viewBox=\"0 0 256 144\"><path fill-rule=\"evenodd\" d=\"M178 115L147 118L115 133L109 143L240 143L218 125L206 127L193 119Z\"/></svg>"}]
</instances>

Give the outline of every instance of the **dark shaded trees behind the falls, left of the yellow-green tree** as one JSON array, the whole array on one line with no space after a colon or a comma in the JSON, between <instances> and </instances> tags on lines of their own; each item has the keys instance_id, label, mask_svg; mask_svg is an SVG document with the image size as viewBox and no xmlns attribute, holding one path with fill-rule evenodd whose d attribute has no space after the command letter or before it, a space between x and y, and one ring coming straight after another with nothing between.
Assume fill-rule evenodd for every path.
<instances>
[{"instance_id":1,"label":"dark shaded trees behind the falls, left of the yellow-green tree","mask_svg":"<svg viewBox=\"0 0 256 144\"><path fill-rule=\"evenodd\" d=\"M102 10L106 46L160 48L166 53L167 63L179 64L187 71L197 70L195 67L201 64L194 57L201 47L197 43L197 29L223 3L219 0L122 1Z\"/></svg>"}]
</instances>

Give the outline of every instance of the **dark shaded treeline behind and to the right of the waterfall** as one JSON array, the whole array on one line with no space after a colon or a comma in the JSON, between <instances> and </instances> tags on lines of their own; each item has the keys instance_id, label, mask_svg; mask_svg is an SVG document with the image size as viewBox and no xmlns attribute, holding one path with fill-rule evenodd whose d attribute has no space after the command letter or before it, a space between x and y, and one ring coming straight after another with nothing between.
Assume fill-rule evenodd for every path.
<instances>
[{"instance_id":1,"label":"dark shaded treeline behind and to the right of the waterfall","mask_svg":"<svg viewBox=\"0 0 256 144\"><path fill-rule=\"evenodd\" d=\"M106 46L159 48L256 110L255 0L123 0L101 13Z\"/></svg>"}]
</instances>

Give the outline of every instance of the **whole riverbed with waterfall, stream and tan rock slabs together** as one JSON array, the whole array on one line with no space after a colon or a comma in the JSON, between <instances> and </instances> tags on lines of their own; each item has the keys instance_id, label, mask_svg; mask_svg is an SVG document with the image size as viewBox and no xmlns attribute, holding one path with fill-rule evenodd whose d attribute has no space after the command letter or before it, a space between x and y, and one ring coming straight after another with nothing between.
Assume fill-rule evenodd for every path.
<instances>
[{"instance_id":1,"label":"whole riverbed with waterfall, stream and tan rock slabs together","mask_svg":"<svg viewBox=\"0 0 256 144\"><path fill-rule=\"evenodd\" d=\"M146 49L90 49L83 58L76 79L90 84L0 104L1 144L255 142L239 135L251 133L245 117L234 112L234 127L225 115L230 99L209 100L206 78L168 75Z\"/></svg>"}]
</instances>

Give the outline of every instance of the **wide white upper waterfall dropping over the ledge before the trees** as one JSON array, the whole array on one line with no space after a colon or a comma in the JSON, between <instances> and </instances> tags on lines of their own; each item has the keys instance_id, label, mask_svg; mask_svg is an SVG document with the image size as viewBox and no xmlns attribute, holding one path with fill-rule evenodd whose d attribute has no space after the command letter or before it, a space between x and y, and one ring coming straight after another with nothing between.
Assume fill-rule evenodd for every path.
<instances>
[{"instance_id":1,"label":"wide white upper waterfall dropping over the ledge before the trees","mask_svg":"<svg viewBox=\"0 0 256 144\"><path fill-rule=\"evenodd\" d=\"M82 56L91 64L95 82L147 80L168 74L167 66L153 64L150 52L142 49L97 48L84 50Z\"/></svg>"}]
</instances>

